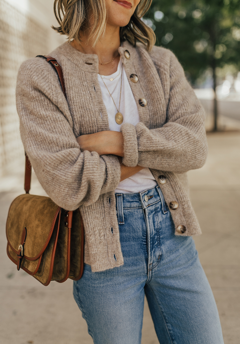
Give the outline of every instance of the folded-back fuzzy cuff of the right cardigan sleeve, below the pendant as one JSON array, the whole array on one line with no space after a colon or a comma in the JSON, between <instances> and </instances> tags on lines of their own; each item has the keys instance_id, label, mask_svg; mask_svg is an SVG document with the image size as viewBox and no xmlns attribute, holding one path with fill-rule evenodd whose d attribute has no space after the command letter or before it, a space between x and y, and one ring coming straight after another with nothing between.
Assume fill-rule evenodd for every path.
<instances>
[{"instance_id":1,"label":"folded-back fuzzy cuff of the right cardigan sleeve, below the pendant","mask_svg":"<svg viewBox=\"0 0 240 344\"><path fill-rule=\"evenodd\" d=\"M126 166L135 167L138 164L138 140L135 127L130 123L124 123L120 131L123 135L122 163Z\"/></svg>"}]
</instances>

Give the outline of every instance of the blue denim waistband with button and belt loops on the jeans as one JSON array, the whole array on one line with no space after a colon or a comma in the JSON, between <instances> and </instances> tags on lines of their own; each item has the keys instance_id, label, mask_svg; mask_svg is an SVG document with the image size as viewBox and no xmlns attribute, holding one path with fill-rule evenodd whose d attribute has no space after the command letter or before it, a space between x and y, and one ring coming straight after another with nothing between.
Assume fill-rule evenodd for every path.
<instances>
[{"instance_id":1,"label":"blue denim waistband with button and belt loops on the jeans","mask_svg":"<svg viewBox=\"0 0 240 344\"><path fill-rule=\"evenodd\" d=\"M155 203L161 202L163 214L167 213L163 193L158 185L138 193L116 193L115 197L119 224L124 224L124 209L146 209Z\"/></svg>"}]
</instances>

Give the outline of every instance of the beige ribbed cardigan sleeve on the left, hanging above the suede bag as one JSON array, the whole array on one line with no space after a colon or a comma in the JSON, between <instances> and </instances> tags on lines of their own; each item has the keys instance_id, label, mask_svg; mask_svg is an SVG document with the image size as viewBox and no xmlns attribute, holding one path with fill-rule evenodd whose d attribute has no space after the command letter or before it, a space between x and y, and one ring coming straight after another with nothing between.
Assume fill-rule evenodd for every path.
<instances>
[{"instance_id":1,"label":"beige ribbed cardigan sleeve on the left, hanging above the suede bag","mask_svg":"<svg viewBox=\"0 0 240 344\"><path fill-rule=\"evenodd\" d=\"M23 146L43 189L57 205L74 210L114 191L120 181L117 157L80 151L67 101L45 60L22 64L16 100Z\"/></svg>"}]
</instances>

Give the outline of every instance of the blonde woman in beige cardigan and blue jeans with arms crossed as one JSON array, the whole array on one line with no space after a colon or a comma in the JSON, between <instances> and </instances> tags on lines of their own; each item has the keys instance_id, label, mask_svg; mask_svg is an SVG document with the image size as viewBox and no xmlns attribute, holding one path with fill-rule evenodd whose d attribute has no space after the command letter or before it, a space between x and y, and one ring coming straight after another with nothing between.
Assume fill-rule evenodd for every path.
<instances>
[{"instance_id":1,"label":"blonde woman in beige cardigan and blue jeans with arms crossed","mask_svg":"<svg viewBox=\"0 0 240 344\"><path fill-rule=\"evenodd\" d=\"M141 343L145 294L161 344L221 344L185 174L206 159L204 110L174 54L153 46L140 19L150 2L55 0L68 42L50 55L67 101L50 65L24 62L22 141L52 200L80 207L85 267L74 298L94 343Z\"/></svg>"}]
</instances>

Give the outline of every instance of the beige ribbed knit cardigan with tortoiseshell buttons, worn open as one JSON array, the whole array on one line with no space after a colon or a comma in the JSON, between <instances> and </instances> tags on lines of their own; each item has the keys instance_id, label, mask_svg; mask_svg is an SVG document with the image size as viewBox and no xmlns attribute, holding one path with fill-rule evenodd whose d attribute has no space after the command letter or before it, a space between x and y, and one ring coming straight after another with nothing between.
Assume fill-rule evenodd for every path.
<instances>
[{"instance_id":1,"label":"beige ribbed knit cardigan with tortoiseshell buttons, worn open","mask_svg":"<svg viewBox=\"0 0 240 344\"><path fill-rule=\"evenodd\" d=\"M124 51L128 50L127 59ZM127 166L149 167L177 228L200 234L189 200L185 172L205 163L207 142L203 107L188 84L174 54L162 47L151 53L124 42L119 48L136 100L140 123L121 126ZM67 100L54 69L42 58L25 61L17 79L17 110L24 148L39 182L64 209L80 207L85 227L85 262L92 271L123 265L114 190L120 181L115 155L81 152L76 137L109 130L108 115L98 83L98 56L83 54L67 43L50 53L63 68ZM131 74L139 81L133 83ZM147 105L139 105L145 98ZM129 109L131 111L131 109ZM131 229L130 229L131 230ZM114 259L114 254L117 261Z\"/></svg>"}]
</instances>

